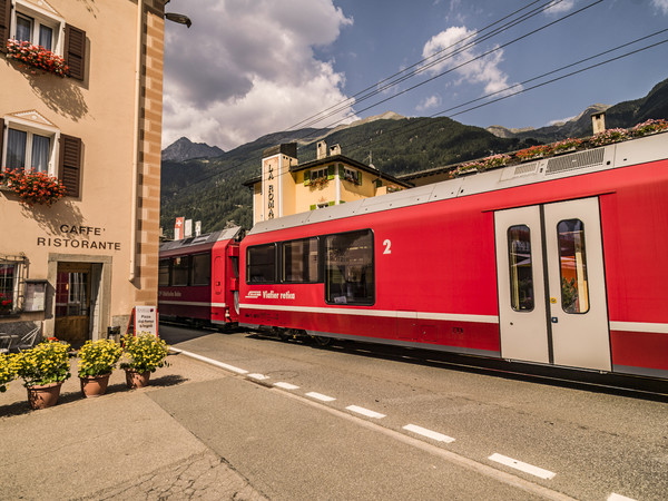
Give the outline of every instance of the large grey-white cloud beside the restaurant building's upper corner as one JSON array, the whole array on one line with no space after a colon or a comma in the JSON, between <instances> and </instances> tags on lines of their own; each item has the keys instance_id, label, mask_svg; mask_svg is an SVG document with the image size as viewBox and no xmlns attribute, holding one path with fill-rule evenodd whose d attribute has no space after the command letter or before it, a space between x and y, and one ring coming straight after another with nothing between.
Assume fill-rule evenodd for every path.
<instances>
[{"instance_id":1,"label":"large grey-white cloud beside the restaurant building's upper corner","mask_svg":"<svg viewBox=\"0 0 668 501\"><path fill-rule=\"evenodd\" d=\"M166 23L163 146L186 136L228 150L346 98L344 76L313 52L353 22L332 0L173 1L167 10L193 27Z\"/></svg>"}]
</instances>

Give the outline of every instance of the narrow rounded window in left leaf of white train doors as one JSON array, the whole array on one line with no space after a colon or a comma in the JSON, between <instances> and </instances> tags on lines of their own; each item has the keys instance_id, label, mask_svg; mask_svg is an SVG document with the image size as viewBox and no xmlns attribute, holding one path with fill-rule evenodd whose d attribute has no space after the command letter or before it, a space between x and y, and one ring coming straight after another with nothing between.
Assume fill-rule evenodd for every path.
<instances>
[{"instance_id":1,"label":"narrow rounded window in left leaf of white train doors","mask_svg":"<svg viewBox=\"0 0 668 501\"><path fill-rule=\"evenodd\" d=\"M533 310L533 271L531 232L525 225L508 228L510 262L510 305L515 312Z\"/></svg>"}]
</instances>

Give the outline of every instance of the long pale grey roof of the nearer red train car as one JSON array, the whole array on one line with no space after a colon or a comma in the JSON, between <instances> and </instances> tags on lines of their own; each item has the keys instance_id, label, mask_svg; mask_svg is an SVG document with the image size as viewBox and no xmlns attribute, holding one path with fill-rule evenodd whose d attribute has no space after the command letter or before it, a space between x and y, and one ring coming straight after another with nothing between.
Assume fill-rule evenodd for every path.
<instances>
[{"instance_id":1,"label":"long pale grey roof of the nearer red train car","mask_svg":"<svg viewBox=\"0 0 668 501\"><path fill-rule=\"evenodd\" d=\"M392 210L668 158L668 132L511 165L432 185L257 223L248 235Z\"/></svg>"}]
</instances>

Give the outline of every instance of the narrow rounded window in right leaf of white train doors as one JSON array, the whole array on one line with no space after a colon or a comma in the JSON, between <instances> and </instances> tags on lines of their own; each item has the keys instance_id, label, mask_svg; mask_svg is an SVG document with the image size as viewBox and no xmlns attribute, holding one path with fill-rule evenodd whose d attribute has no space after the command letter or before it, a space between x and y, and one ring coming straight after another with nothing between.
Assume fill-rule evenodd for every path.
<instances>
[{"instance_id":1,"label":"narrow rounded window in right leaf of white train doors","mask_svg":"<svg viewBox=\"0 0 668 501\"><path fill-rule=\"evenodd\" d=\"M587 313L589 291L584 224L580 219L562 220L557 225L557 233L561 272L561 307L566 313Z\"/></svg>"}]
</instances>

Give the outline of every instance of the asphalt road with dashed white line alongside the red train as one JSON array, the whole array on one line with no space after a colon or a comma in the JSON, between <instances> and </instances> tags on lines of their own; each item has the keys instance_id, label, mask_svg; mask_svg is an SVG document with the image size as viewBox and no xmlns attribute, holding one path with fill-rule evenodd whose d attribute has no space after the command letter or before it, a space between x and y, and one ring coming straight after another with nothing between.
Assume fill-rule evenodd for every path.
<instances>
[{"instance_id":1,"label":"asphalt road with dashed white line alongside the red train","mask_svg":"<svg viewBox=\"0 0 668 501\"><path fill-rule=\"evenodd\" d=\"M363 343L160 335L237 376L151 399L269 499L668 499L661 400Z\"/></svg>"}]
</instances>

